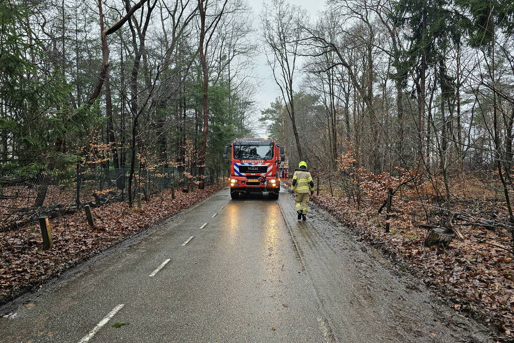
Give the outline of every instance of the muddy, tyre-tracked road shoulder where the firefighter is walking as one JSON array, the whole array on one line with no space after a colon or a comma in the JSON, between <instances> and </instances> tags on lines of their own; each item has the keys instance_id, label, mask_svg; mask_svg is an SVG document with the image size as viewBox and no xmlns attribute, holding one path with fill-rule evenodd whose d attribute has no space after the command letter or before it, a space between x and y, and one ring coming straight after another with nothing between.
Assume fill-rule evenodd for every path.
<instances>
[{"instance_id":1,"label":"muddy, tyre-tracked road shoulder where the firefighter is walking","mask_svg":"<svg viewBox=\"0 0 514 343\"><path fill-rule=\"evenodd\" d=\"M325 312L332 314L327 319L336 337L347 335L338 332L344 316L334 309L340 308L355 316L350 322L365 318L368 324L374 323L374 331L391 339L492 341L485 326L452 310L419 279L400 272L393 260L358 241L352 230L321 207L311 203L307 222L298 221L293 199L284 195L280 204L291 235L323 299ZM334 290L339 290L338 296L333 295ZM366 335L371 338L373 330L362 327L353 334L360 339Z\"/></svg>"}]
</instances>

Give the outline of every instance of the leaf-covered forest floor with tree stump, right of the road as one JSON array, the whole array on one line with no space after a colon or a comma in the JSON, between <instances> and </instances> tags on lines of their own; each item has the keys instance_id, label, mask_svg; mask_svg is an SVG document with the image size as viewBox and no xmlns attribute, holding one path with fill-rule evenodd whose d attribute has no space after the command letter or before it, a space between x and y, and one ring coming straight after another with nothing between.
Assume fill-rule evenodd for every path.
<instances>
[{"instance_id":1,"label":"leaf-covered forest floor with tree stump, right of the road","mask_svg":"<svg viewBox=\"0 0 514 343\"><path fill-rule=\"evenodd\" d=\"M462 214L453 227L464 239L454 239L447 250L425 247L425 209L415 201L395 198L386 233L386 211L377 213L383 198L364 196L360 206L343 195L342 189L328 187L313 201L332 213L360 240L379 248L393 262L395 269L419 278L426 287L452 307L473 316L493 329L500 341L514 341L514 272L509 238L498 242L498 227L469 225L487 222L483 214L502 216L503 208L494 200L460 201L452 212ZM477 211L480 208L480 211ZM482 217L479 218L479 214ZM470 219L472 218L472 219ZM494 242L494 243L491 243ZM495 246L491 245L494 244Z\"/></svg>"}]
</instances>

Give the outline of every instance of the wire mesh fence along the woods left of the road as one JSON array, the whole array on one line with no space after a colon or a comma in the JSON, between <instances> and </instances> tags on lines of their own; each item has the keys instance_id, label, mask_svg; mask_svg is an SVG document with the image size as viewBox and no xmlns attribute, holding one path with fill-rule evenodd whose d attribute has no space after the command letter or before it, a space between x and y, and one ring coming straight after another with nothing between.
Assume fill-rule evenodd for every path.
<instances>
[{"instance_id":1,"label":"wire mesh fence along the woods left of the road","mask_svg":"<svg viewBox=\"0 0 514 343\"><path fill-rule=\"evenodd\" d=\"M132 195L141 193L148 200L164 189L190 189L197 183L192 172L184 173L180 167L136 170ZM80 167L31 176L1 172L0 232L29 225L41 216L64 215L86 204L96 207L126 201L129 177L128 168ZM212 177L207 175L205 182L212 182Z\"/></svg>"}]
</instances>

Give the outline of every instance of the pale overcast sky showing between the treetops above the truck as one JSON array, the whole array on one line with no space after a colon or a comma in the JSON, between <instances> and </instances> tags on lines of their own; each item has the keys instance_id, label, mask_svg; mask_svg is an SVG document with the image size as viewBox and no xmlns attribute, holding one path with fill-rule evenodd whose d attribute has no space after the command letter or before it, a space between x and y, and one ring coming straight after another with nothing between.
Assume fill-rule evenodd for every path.
<instances>
[{"instance_id":1,"label":"pale overcast sky showing between the treetops above the truck","mask_svg":"<svg viewBox=\"0 0 514 343\"><path fill-rule=\"evenodd\" d=\"M323 9L324 0L289 0L291 4L299 5L302 8L306 9L311 17L315 17L318 11ZM262 6L269 5L271 3L270 0L248 0L249 5L253 10L253 25L256 31L256 41L259 43L259 51L260 53L255 58L255 72L257 77L261 81L261 87L258 91L258 95L255 98L255 101L258 103L259 112L261 109L265 109L269 106L271 102L273 102L278 96L280 96L280 90L277 87L276 83L273 80L273 74L269 66L266 63L266 56L263 52L263 41L262 41L262 33L261 33L261 22L260 22L260 14L262 10ZM299 66L301 67L301 66ZM259 131L260 136L264 135L264 130L258 127L255 127L256 131Z\"/></svg>"}]
</instances>

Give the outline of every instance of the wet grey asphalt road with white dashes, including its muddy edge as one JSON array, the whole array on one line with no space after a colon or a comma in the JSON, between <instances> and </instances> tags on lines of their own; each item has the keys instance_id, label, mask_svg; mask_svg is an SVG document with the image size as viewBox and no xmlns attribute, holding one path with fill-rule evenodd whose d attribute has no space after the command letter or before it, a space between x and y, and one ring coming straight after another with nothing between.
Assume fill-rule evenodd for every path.
<instances>
[{"instance_id":1,"label":"wet grey asphalt road with white dashes, including its muddy edge","mask_svg":"<svg viewBox=\"0 0 514 343\"><path fill-rule=\"evenodd\" d=\"M320 209L297 221L287 193L223 190L2 314L2 342L489 341Z\"/></svg>"}]
</instances>

